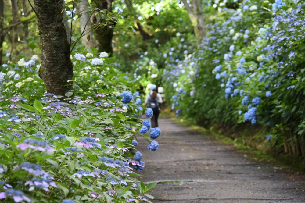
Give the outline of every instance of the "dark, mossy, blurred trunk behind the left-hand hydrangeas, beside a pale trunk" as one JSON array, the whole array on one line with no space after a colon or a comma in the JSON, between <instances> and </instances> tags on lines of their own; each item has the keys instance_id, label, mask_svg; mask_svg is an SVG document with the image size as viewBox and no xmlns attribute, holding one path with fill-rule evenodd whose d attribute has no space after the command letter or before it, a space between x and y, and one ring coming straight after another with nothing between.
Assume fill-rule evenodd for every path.
<instances>
[{"instance_id":1,"label":"dark, mossy, blurred trunk behind the left-hand hydrangeas, beside a pale trunk","mask_svg":"<svg viewBox=\"0 0 305 203\"><path fill-rule=\"evenodd\" d=\"M95 0L94 2L100 10L106 9L107 13L112 12L112 0ZM98 42L99 52L107 52L109 53L109 56L112 56L113 29L116 22L113 20L106 20L104 18L98 20L98 18L95 16L93 18L93 23L96 25L94 35L96 41Z\"/></svg>"}]
</instances>

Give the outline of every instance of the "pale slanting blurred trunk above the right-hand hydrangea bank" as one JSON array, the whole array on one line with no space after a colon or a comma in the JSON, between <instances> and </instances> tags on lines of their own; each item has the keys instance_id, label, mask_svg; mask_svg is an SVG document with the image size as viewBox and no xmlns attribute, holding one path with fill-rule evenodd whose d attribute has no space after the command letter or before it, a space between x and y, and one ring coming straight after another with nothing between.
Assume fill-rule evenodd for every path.
<instances>
[{"instance_id":1,"label":"pale slanting blurred trunk above the right-hand hydrangea bank","mask_svg":"<svg viewBox=\"0 0 305 203\"><path fill-rule=\"evenodd\" d=\"M187 0L182 0L183 4L188 12L188 16L194 27L194 33L197 40L197 45L200 45L203 42L205 36L204 29L204 19L203 19L203 10L202 10L202 1L201 0L192 0L190 7L187 3Z\"/></svg>"}]
</instances>

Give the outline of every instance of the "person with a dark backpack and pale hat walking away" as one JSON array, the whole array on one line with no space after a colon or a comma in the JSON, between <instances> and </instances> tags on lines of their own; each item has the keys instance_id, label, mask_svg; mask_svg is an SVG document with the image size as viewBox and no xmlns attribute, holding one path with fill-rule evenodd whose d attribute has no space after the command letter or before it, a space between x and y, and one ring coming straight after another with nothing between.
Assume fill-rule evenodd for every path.
<instances>
[{"instance_id":1,"label":"person with a dark backpack and pale hat walking away","mask_svg":"<svg viewBox=\"0 0 305 203\"><path fill-rule=\"evenodd\" d=\"M163 100L159 93L157 93L157 86L152 84L150 87L150 94L145 98L145 104L152 108L153 116L151 118L152 128L158 127L158 117L160 113L160 104Z\"/></svg>"}]
</instances>

